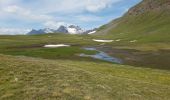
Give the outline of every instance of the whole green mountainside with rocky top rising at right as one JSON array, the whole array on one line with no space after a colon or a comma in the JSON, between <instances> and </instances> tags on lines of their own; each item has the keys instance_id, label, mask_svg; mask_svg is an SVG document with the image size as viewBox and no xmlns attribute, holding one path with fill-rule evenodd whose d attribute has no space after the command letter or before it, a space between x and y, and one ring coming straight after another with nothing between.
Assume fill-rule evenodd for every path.
<instances>
[{"instance_id":1,"label":"whole green mountainside with rocky top rising at right","mask_svg":"<svg viewBox=\"0 0 170 100\"><path fill-rule=\"evenodd\" d=\"M124 40L170 41L170 0L143 0L122 17L101 26L95 35Z\"/></svg>"}]
</instances>

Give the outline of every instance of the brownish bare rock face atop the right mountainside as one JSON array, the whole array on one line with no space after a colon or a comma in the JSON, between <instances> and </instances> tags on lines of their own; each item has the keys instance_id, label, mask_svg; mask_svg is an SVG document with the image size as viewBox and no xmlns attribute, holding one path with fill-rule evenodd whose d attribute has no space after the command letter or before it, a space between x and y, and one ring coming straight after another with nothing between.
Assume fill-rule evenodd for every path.
<instances>
[{"instance_id":1,"label":"brownish bare rock face atop the right mountainside","mask_svg":"<svg viewBox=\"0 0 170 100\"><path fill-rule=\"evenodd\" d=\"M170 11L170 0L143 0L131 8L126 15L136 16L149 11Z\"/></svg>"}]
</instances>

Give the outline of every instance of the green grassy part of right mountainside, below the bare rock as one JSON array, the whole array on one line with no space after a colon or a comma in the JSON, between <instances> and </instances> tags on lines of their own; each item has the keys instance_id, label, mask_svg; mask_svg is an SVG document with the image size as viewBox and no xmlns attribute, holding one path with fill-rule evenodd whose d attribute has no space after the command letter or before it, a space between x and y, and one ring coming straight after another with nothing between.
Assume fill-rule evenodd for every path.
<instances>
[{"instance_id":1,"label":"green grassy part of right mountainside, below the bare rock","mask_svg":"<svg viewBox=\"0 0 170 100\"><path fill-rule=\"evenodd\" d=\"M139 16L127 16L115 28L108 31L108 37L123 40L136 39L145 43L170 42L169 20L170 15L165 13L150 12Z\"/></svg>"}]
</instances>

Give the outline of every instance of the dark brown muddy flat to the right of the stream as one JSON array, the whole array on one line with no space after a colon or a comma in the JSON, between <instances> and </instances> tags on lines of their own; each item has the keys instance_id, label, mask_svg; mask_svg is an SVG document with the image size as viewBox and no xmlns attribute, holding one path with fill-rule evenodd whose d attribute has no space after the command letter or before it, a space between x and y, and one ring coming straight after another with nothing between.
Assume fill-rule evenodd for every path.
<instances>
[{"instance_id":1,"label":"dark brown muddy flat to the right of the stream","mask_svg":"<svg viewBox=\"0 0 170 100\"><path fill-rule=\"evenodd\" d=\"M95 47L109 56L121 59L123 64L170 70L170 50L139 51L116 49L109 46Z\"/></svg>"}]
</instances>

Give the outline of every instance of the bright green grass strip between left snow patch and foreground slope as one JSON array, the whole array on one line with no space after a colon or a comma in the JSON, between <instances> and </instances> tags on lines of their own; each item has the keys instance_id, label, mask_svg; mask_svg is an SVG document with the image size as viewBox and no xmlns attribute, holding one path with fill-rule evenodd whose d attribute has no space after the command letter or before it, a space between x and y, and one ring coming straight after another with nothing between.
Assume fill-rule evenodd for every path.
<instances>
[{"instance_id":1,"label":"bright green grass strip between left snow patch and foreground slope","mask_svg":"<svg viewBox=\"0 0 170 100\"><path fill-rule=\"evenodd\" d=\"M1 50L0 53L7 55L20 55L20 56L30 56L39 57L45 59L72 59L72 60L86 60L79 56L79 54L96 54L97 51L84 50L80 47L60 47L60 48L44 48L44 47L34 47L34 48L11 48L6 50Z\"/></svg>"}]
</instances>

